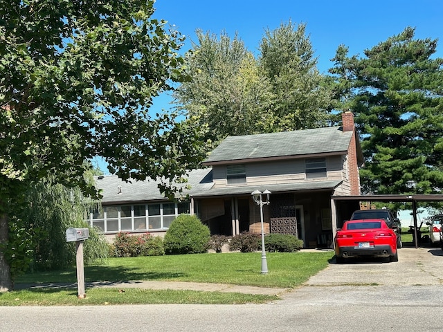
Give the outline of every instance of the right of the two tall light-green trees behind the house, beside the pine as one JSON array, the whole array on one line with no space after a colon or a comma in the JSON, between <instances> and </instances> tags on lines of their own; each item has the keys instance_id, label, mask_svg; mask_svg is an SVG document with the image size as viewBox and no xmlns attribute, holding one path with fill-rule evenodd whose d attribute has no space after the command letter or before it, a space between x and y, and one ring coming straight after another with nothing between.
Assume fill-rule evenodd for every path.
<instances>
[{"instance_id":1,"label":"right of the two tall light-green trees behind the house, beside the pine","mask_svg":"<svg viewBox=\"0 0 443 332\"><path fill-rule=\"evenodd\" d=\"M259 50L260 68L272 91L270 131L325 126L331 95L317 69L306 25L289 21L267 29Z\"/></svg>"}]
</instances>

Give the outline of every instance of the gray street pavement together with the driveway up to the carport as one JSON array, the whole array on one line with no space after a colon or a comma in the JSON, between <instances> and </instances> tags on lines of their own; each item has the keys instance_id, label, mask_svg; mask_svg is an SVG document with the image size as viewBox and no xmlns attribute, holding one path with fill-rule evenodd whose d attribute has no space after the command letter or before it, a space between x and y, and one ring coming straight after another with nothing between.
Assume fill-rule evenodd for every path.
<instances>
[{"instance_id":1,"label":"gray street pavement together with the driveway up to the carport","mask_svg":"<svg viewBox=\"0 0 443 332\"><path fill-rule=\"evenodd\" d=\"M0 307L0 331L443 331L443 252L334 264L269 304Z\"/></svg>"}]
</instances>

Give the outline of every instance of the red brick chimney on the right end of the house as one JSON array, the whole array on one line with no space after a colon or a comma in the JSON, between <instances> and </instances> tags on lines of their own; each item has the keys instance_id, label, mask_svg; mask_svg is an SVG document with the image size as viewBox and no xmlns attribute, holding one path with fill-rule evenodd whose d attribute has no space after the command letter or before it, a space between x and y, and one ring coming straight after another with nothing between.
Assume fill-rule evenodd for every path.
<instances>
[{"instance_id":1,"label":"red brick chimney on the right end of the house","mask_svg":"<svg viewBox=\"0 0 443 332\"><path fill-rule=\"evenodd\" d=\"M341 113L343 121L343 131L352 131L352 138L347 149L347 166L348 176L350 181L350 195L360 195L360 174L359 164L357 163L356 151L356 132L354 127L354 114L351 111L344 111Z\"/></svg>"}]
</instances>

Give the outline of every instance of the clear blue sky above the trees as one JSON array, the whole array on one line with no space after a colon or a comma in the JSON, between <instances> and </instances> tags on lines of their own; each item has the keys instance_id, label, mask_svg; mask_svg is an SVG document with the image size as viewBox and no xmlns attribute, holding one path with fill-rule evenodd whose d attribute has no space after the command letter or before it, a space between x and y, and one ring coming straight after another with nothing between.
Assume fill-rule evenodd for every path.
<instances>
[{"instance_id":1,"label":"clear blue sky above the trees","mask_svg":"<svg viewBox=\"0 0 443 332\"><path fill-rule=\"evenodd\" d=\"M407 26L415 27L415 37L439 39L438 57L443 57L443 1L372 0L372 1L298 1L298 0L157 0L154 17L165 19L186 36L182 52L197 42L195 30L219 35L235 33L248 50L257 54L264 30L274 30L282 22L305 23L307 34L318 57L318 69L326 73L340 44L349 47L349 55L363 55L388 37L398 35ZM170 98L154 100L152 112L170 108ZM103 171L104 167L101 167Z\"/></svg>"}]
</instances>

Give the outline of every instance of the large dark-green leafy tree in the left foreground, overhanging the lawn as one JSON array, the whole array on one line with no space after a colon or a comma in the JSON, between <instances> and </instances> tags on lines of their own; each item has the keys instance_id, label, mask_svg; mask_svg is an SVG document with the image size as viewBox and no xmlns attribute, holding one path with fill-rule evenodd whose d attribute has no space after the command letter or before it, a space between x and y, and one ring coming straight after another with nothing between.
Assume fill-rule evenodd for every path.
<instances>
[{"instance_id":1,"label":"large dark-green leafy tree in the left foreground, overhanging the lawn","mask_svg":"<svg viewBox=\"0 0 443 332\"><path fill-rule=\"evenodd\" d=\"M149 113L184 77L183 39L153 3L0 0L0 243L8 208L47 174L87 190L84 160L102 156L121 178L161 178L173 194L203 158L197 128ZM0 290L11 286L0 250Z\"/></svg>"}]
</instances>

